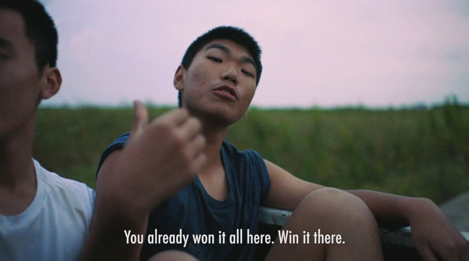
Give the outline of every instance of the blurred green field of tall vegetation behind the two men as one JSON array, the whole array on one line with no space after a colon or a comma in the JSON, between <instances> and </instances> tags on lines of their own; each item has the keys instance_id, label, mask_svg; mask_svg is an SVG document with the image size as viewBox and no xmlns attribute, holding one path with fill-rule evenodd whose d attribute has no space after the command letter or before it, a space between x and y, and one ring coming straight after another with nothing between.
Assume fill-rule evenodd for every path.
<instances>
[{"instance_id":1,"label":"blurred green field of tall vegetation behind the two men","mask_svg":"<svg viewBox=\"0 0 469 261\"><path fill-rule=\"evenodd\" d=\"M151 118L171 108L150 107ZM131 108L39 109L33 156L94 188L101 153L130 129ZM469 106L431 109L256 109L227 140L292 174L339 189L423 196L439 204L469 190Z\"/></svg>"}]
</instances>

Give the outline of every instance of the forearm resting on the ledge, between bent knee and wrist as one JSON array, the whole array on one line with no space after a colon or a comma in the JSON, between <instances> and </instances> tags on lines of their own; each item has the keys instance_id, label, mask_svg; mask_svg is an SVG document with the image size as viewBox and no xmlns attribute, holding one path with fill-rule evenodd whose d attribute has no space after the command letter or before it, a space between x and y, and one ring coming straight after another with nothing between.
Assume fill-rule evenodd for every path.
<instances>
[{"instance_id":1,"label":"forearm resting on the ledge, between bent knee and wrist","mask_svg":"<svg viewBox=\"0 0 469 261\"><path fill-rule=\"evenodd\" d=\"M399 228L408 226L409 215L418 211L418 201L430 201L426 198L414 198L398 196L371 190L347 190L347 192L358 196L371 210L383 228Z\"/></svg>"}]
</instances>

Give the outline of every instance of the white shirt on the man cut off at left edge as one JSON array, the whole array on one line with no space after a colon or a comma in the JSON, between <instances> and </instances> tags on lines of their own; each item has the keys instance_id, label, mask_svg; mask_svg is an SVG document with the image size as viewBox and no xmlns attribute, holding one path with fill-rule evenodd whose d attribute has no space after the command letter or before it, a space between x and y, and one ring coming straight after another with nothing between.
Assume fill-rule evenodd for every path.
<instances>
[{"instance_id":1,"label":"white shirt on the man cut off at left edge","mask_svg":"<svg viewBox=\"0 0 469 261\"><path fill-rule=\"evenodd\" d=\"M34 160L37 190L16 216L0 215L0 261L75 261L88 236L95 191Z\"/></svg>"}]
</instances>

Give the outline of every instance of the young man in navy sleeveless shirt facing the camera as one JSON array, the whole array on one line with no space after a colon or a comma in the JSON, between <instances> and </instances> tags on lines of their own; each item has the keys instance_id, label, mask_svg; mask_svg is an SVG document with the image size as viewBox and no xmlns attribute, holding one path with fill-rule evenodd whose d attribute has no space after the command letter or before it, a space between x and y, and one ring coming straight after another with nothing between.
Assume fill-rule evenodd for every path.
<instances>
[{"instance_id":1,"label":"young man in navy sleeveless shirt facing the camera","mask_svg":"<svg viewBox=\"0 0 469 261\"><path fill-rule=\"evenodd\" d=\"M429 199L325 188L296 178L257 152L240 152L225 141L229 125L246 115L254 96L262 72L260 54L254 38L235 27L217 27L190 44L174 75L174 87L179 91L179 106L202 123L207 164L177 192L167 180L161 180L155 188L160 198L155 199L155 209L147 213L147 224L142 224L142 218L130 218L135 225L133 233L146 231L150 235L156 230L159 234L179 234L182 229L183 234L217 237L220 232L230 235L236 234L236 229L250 229L250 234L255 234L259 206L263 204L294 210L283 230L302 235L303 231L320 229L323 234L340 234L346 241L280 244L276 239L268 261L383 260L378 225L410 225L414 244L425 261L436 261L437 257L468 260L467 240ZM123 159L128 138L129 133L122 135L103 153L97 198L101 190L106 190L104 181L113 180L113 166ZM153 171L158 173L159 169ZM179 179L187 182L184 175L171 177L173 182ZM125 239L123 232L120 236ZM201 261L251 260L255 245L243 243L144 243L141 259L177 249Z\"/></svg>"}]
</instances>

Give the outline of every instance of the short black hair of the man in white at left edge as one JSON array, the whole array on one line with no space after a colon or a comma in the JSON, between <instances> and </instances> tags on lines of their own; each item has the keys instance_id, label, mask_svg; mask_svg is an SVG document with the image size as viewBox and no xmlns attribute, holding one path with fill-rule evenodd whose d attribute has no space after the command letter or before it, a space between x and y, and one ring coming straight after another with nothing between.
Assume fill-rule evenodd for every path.
<instances>
[{"instance_id":1,"label":"short black hair of the man in white at left edge","mask_svg":"<svg viewBox=\"0 0 469 261\"><path fill-rule=\"evenodd\" d=\"M0 8L12 9L23 16L25 33L36 51L36 65L41 73L45 65L57 65L59 36L52 17L37 0L0 0Z\"/></svg>"}]
</instances>

